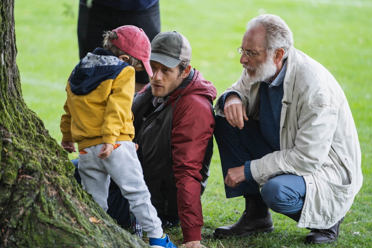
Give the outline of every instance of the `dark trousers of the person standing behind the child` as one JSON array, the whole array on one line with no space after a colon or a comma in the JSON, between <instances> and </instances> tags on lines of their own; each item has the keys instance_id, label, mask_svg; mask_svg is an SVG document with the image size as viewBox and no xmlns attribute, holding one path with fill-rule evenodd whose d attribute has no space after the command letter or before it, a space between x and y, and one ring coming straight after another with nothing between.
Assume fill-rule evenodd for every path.
<instances>
[{"instance_id":1,"label":"dark trousers of the person standing behind the child","mask_svg":"<svg viewBox=\"0 0 372 248\"><path fill-rule=\"evenodd\" d=\"M160 33L159 3L142 11L124 11L112 9L93 1L92 7L80 1L77 20L77 37L80 59L97 47L102 48L103 32L111 31L123 25L134 25L142 28L150 42ZM146 71L136 71L136 82L149 82Z\"/></svg>"}]
</instances>

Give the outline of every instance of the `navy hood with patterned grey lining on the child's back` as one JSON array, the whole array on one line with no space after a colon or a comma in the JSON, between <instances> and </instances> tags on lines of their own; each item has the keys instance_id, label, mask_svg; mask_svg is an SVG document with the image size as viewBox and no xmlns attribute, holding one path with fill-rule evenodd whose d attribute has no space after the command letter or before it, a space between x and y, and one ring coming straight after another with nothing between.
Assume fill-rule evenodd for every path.
<instances>
[{"instance_id":1,"label":"navy hood with patterned grey lining on the child's back","mask_svg":"<svg viewBox=\"0 0 372 248\"><path fill-rule=\"evenodd\" d=\"M69 79L71 91L76 95L87 94L103 81L115 79L128 65L108 50L96 48L81 59L72 71Z\"/></svg>"}]
</instances>

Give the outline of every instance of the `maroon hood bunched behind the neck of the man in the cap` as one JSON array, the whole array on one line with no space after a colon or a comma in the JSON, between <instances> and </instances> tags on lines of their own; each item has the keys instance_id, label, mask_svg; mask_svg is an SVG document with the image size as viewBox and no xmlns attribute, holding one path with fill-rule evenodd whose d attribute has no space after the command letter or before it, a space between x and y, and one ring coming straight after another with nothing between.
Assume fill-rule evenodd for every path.
<instances>
[{"instance_id":1,"label":"maroon hood bunched behind the neck of the man in the cap","mask_svg":"<svg viewBox=\"0 0 372 248\"><path fill-rule=\"evenodd\" d=\"M151 91L151 84L147 84L138 94ZM217 90L211 81L203 78L200 71L191 69L190 74L183 80L181 85L170 94L167 104L176 100L180 95L199 94L206 96L211 102L216 99Z\"/></svg>"}]
</instances>

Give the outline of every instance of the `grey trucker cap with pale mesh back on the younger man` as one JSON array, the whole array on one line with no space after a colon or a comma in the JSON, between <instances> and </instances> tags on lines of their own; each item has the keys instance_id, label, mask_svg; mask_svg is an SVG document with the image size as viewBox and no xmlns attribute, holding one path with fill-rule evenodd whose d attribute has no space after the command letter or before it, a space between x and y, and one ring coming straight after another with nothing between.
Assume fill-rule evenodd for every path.
<instances>
[{"instance_id":1,"label":"grey trucker cap with pale mesh back on the younger man","mask_svg":"<svg viewBox=\"0 0 372 248\"><path fill-rule=\"evenodd\" d=\"M190 43L177 31L158 33L151 42L150 60L169 68L176 67L181 61L190 62Z\"/></svg>"}]
</instances>

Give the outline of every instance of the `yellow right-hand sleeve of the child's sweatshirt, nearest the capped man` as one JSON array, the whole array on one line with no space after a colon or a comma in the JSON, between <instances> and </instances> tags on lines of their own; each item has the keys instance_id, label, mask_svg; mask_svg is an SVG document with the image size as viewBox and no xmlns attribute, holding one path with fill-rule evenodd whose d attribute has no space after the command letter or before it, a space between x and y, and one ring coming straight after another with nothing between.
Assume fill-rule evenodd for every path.
<instances>
[{"instance_id":1,"label":"yellow right-hand sleeve of the child's sweatshirt, nearest the capped man","mask_svg":"<svg viewBox=\"0 0 372 248\"><path fill-rule=\"evenodd\" d=\"M132 119L132 102L134 97L135 71L131 66L125 67L112 82L104 122L102 125L102 143L115 144L126 120Z\"/></svg>"}]
</instances>

